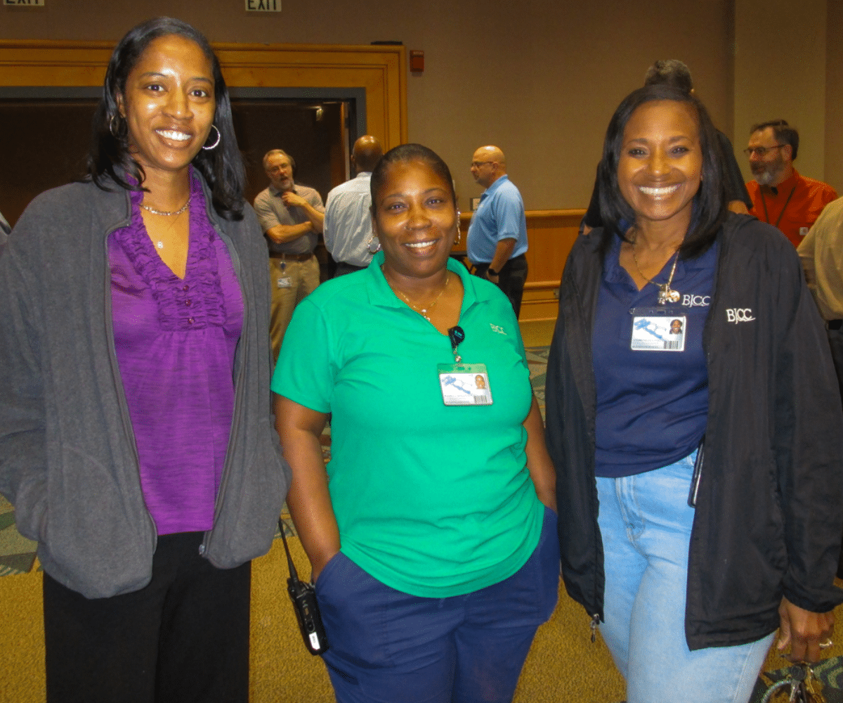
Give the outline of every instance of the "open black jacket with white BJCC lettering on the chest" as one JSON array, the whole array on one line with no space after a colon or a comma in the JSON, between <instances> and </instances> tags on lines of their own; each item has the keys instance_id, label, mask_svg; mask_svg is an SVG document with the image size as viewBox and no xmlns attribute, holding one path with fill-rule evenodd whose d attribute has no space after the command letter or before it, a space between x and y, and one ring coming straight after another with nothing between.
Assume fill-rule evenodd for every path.
<instances>
[{"instance_id":1,"label":"open black jacket with white BJCC lettering on the chest","mask_svg":"<svg viewBox=\"0 0 843 703\"><path fill-rule=\"evenodd\" d=\"M593 317L601 229L566 263L547 367L547 444L556 465L562 576L603 619L603 545L594 480ZM843 528L843 413L824 325L796 251L749 215L717 235L703 333L709 379L706 451L690 538L690 649L776 630L782 596L825 612Z\"/></svg>"}]
</instances>

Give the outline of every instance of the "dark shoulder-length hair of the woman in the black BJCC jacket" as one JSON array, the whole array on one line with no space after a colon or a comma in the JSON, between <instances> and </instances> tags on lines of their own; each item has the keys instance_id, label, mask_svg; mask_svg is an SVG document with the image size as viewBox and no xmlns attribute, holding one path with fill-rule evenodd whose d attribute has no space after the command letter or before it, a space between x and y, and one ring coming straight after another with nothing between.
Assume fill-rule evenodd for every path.
<instances>
[{"instance_id":1,"label":"dark shoulder-length hair of the woman in the black BJCC jacket","mask_svg":"<svg viewBox=\"0 0 843 703\"><path fill-rule=\"evenodd\" d=\"M694 95L689 95L684 90L667 84L647 85L633 90L618 105L618 109L609 121L603 143L603 159L600 160L597 170L600 215L604 224L600 251L604 255L609 251L615 234L626 240L626 230L631 224L635 224L635 212L620 193L618 163L620 150L623 148L626 123L629 122L633 112L652 100L673 100L685 103L690 105L696 115L702 151L702 182L694 196L694 216L690 230L685 235L685 241L679 247L679 257L685 259L698 257L714 242L717 231L720 230L728 215L726 188L723 183L723 155L717 138L717 130L711 124L711 117L708 116L705 105Z\"/></svg>"}]
</instances>

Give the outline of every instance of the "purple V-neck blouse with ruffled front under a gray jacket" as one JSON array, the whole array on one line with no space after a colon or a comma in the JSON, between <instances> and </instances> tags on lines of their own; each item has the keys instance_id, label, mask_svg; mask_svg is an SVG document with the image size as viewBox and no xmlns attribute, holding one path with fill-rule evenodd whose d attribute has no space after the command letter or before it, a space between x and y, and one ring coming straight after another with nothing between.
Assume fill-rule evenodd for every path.
<instances>
[{"instance_id":1,"label":"purple V-neck blouse with ruffled front under a gray jacket","mask_svg":"<svg viewBox=\"0 0 843 703\"><path fill-rule=\"evenodd\" d=\"M109 236L117 364L158 534L213 527L234 414L243 298L191 169L185 278L158 257L131 192L132 224Z\"/></svg>"}]
</instances>

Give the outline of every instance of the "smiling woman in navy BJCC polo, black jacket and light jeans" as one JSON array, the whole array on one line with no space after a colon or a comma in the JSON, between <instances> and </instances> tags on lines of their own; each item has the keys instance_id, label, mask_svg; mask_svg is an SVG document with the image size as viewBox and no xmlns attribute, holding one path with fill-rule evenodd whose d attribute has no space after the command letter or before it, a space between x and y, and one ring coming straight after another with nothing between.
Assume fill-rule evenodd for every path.
<instances>
[{"instance_id":1,"label":"smiling woman in navy BJCC polo, black jacket and light jeans","mask_svg":"<svg viewBox=\"0 0 843 703\"><path fill-rule=\"evenodd\" d=\"M745 701L830 646L843 418L792 246L729 214L706 110L639 89L609 123L604 227L566 263L548 361L562 575L630 703Z\"/></svg>"}]
</instances>

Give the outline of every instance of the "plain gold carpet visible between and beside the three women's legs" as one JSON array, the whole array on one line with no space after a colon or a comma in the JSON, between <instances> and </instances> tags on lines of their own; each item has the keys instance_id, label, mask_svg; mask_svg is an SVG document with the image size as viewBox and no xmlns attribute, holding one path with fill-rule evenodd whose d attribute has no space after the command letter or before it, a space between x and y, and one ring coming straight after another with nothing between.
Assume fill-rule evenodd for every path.
<instances>
[{"instance_id":1,"label":"plain gold carpet visible between and beside the three women's legs","mask_svg":"<svg viewBox=\"0 0 843 703\"><path fill-rule=\"evenodd\" d=\"M301 573L309 566L301 543L289 540ZM45 700L44 635L39 571L0 579L0 663L2 703ZM325 666L305 651L287 598L287 563L280 539L253 562L250 650L252 703L330 703ZM588 616L561 589L550 622L536 635L524 666L516 703L594 701L624 697L623 680L598 639L591 643Z\"/></svg>"}]
</instances>

